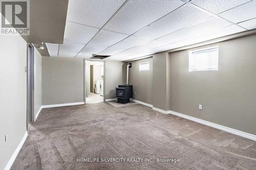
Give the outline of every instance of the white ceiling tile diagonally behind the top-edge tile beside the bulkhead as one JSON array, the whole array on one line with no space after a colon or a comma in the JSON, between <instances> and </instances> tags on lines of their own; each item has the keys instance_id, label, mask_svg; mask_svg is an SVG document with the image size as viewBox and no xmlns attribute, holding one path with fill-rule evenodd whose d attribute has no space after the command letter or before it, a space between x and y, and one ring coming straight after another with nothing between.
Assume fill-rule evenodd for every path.
<instances>
[{"instance_id":1,"label":"white ceiling tile diagonally behind the top-edge tile beside the bulkhead","mask_svg":"<svg viewBox=\"0 0 256 170\"><path fill-rule=\"evenodd\" d=\"M110 46L128 36L129 35L115 33L112 31L100 30L100 32L95 37L93 37L89 44L99 46Z\"/></svg>"}]
</instances>

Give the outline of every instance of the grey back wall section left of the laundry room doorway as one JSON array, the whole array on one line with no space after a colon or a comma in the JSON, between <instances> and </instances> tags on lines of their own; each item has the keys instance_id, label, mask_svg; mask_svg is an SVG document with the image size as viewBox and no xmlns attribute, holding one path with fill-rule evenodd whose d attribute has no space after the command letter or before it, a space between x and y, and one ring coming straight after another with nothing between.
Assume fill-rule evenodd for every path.
<instances>
[{"instance_id":1,"label":"grey back wall section left of the laundry room doorway","mask_svg":"<svg viewBox=\"0 0 256 170\"><path fill-rule=\"evenodd\" d=\"M42 57L42 105L83 102L83 59Z\"/></svg>"}]
</instances>

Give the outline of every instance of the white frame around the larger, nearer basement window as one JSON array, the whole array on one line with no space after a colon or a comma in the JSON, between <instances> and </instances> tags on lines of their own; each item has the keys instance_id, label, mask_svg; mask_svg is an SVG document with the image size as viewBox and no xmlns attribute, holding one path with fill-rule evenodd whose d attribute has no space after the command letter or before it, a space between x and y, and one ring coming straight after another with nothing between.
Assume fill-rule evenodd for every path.
<instances>
[{"instance_id":1,"label":"white frame around the larger, nearer basement window","mask_svg":"<svg viewBox=\"0 0 256 170\"><path fill-rule=\"evenodd\" d=\"M218 59L217 59L217 68L205 68L205 69L194 69L193 68L193 53L194 52L199 52L199 51L205 51L205 50L210 50L210 49L214 49L214 48L218 48ZM195 72L195 71L218 71L219 69L219 46L211 46L211 47L207 47L207 48L201 48L198 50L193 50L193 51L189 51L189 63L188 63L188 71L189 72Z\"/></svg>"}]
</instances>

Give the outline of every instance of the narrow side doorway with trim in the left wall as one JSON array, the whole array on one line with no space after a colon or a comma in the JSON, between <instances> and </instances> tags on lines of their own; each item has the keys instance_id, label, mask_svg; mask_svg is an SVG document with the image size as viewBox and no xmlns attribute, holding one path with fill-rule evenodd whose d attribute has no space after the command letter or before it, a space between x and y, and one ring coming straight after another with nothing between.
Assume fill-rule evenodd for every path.
<instances>
[{"instance_id":1,"label":"narrow side doorway with trim in the left wall","mask_svg":"<svg viewBox=\"0 0 256 170\"><path fill-rule=\"evenodd\" d=\"M27 130L34 122L34 46L27 47Z\"/></svg>"}]
</instances>

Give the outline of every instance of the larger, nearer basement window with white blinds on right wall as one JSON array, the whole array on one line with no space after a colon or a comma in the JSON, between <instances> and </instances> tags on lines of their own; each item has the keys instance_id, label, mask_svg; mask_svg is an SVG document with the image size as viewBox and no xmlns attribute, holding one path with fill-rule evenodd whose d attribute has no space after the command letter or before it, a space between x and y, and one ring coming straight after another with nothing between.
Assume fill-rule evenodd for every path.
<instances>
[{"instance_id":1,"label":"larger, nearer basement window with white blinds on right wall","mask_svg":"<svg viewBox=\"0 0 256 170\"><path fill-rule=\"evenodd\" d=\"M219 46L189 52L189 71L216 71L219 62Z\"/></svg>"}]
</instances>

